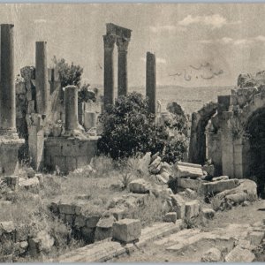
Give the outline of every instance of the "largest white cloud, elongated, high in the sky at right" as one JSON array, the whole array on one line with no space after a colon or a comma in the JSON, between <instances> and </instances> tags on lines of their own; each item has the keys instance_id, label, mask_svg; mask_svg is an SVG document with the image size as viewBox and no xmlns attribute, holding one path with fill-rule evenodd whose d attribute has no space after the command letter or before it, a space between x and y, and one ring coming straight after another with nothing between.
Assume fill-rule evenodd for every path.
<instances>
[{"instance_id":1,"label":"largest white cloud, elongated, high in the sky at right","mask_svg":"<svg viewBox=\"0 0 265 265\"><path fill-rule=\"evenodd\" d=\"M227 19L223 18L223 16L219 14L214 14L211 16L192 16L188 15L186 18L182 19L181 21L178 21L178 25L182 27L187 27L192 24L201 24L206 26L211 26L213 28L220 28L224 25L236 25L240 24L241 21L227 21Z\"/></svg>"}]
</instances>

